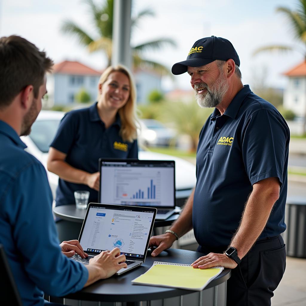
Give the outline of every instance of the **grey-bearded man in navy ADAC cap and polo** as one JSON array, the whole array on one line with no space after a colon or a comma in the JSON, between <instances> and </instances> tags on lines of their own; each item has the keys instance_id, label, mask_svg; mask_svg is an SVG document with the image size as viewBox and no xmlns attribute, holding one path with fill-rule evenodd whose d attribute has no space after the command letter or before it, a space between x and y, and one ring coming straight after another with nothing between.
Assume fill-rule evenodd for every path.
<instances>
[{"instance_id":1,"label":"grey-bearded man in navy ADAC cap and polo","mask_svg":"<svg viewBox=\"0 0 306 306\"><path fill-rule=\"evenodd\" d=\"M241 82L240 60L221 37L199 39L186 61L200 107L215 107L200 132L196 187L166 233L151 237L157 256L193 228L192 266L231 268L227 305L271 305L285 271L281 237L287 196L289 128L269 102Z\"/></svg>"}]
</instances>

